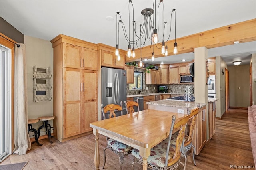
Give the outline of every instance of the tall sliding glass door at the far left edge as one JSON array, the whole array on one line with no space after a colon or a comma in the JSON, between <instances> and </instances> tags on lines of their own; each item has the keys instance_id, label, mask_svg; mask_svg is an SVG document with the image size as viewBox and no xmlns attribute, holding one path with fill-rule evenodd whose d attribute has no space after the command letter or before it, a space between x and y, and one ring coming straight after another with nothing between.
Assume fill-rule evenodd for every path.
<instances>
[{"instance_id":1,"label":"tall sliding glass door at the far left edge","mask_svg":"<svg viewBox=\"0 0 256 170\"><path fill-rule=\"evenodd\" d=\"M11 116L10 49L0 45L0 162L10 154Z\"/></svg>"}]
</instances>

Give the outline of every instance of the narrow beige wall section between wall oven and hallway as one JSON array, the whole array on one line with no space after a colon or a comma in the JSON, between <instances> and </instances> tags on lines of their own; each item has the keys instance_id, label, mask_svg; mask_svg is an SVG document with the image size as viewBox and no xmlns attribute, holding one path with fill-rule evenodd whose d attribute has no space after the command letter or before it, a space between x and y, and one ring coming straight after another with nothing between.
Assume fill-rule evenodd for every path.
<instances>
[{"instance_id":1,"label":"narrow beige wall section between wall oven and hallway","mask_svg":"<svg viewBox=\"0 0 256 170\"><path fill-rule=\"evenodd\" d=\"M216 117L221 117L226 111L226 96L225 96L225 68L228 69L226 62L220 57L216 56Z\"/></svg>"}]
</instances>

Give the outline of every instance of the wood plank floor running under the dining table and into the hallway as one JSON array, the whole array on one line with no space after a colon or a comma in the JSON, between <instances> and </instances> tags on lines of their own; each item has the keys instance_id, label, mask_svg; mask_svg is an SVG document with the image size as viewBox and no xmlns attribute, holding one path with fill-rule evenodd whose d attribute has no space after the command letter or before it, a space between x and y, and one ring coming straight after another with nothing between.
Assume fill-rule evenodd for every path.
<instances>
[{"instance_id":1,"label":"wood plank floor running under the dining table and into the hallway","mask_svg":"<svg viewBox=\"0 0 256 170\"><path fill-rule=\"evenodd\" d=\"M80 138L60 143L53 139L40 140L43 146L32 144L32 149L25 155L11 155L0 163L10 164L26 162L24 170L93 170L94 169L94 135L89 134ZM103 165L103 149L106 146L106 137L100 135L100 169ZM108 156L106 170L118 169L118 156L106 150ZM125 169L131 169L133 156L125 157ZM230 165L254 165L250 136L248 132L247 110L228 111L222 120L216 120L216 133L210 144L204 147L196 156L196 166L188 162L187 170L230 170ZM136 164L135 170L142 166ZM182 169L180 166L179 169Z\"/></svg>"}]
</instances>

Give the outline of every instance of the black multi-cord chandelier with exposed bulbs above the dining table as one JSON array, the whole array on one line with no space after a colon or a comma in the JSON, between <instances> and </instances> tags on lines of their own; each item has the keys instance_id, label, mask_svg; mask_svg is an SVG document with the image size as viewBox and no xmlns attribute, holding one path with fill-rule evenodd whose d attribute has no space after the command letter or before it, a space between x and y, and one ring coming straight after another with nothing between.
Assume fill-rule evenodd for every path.
<instances>
[{"instance_id":1,"label":"black multi-cord chandelier with exposed bulbs above the dining table","mask_svg":"<svg viewBox=\"0 0 256 170\"><path fill-rule=\"evenodd\" d=\"M132 22L130 22L130 6L132 7ZM162 7L162 8L160 8ZM145 8L141 11L141 14L144 16L144 21L140 24L140 32L136 30L136 21L134 21L134 8L132 4L132 0L129 0L128 5L128 12L129 12L129 24L128 24L128 33L126 32L126 28L124 22L122 21L120 12L116 12L116 52L115 55L120 61L120 54L119 54L119 37L120 37L120 30L123 30L124 37L128 42L128 49L126 56L128 58L133 57L135 58L135 49L134 45L140 49L140 65L142 65L142 57L141 57L141 49L145 46L147 41L150 41L150 47L152 47L152 61L154 61L154 46L157 49L160 49L161 54L164 56L168 55L168 47L167 42L171 35L172 30L172 13L174 12L174 24L175 24L175 43L174 43L174 50L173 53L177 54L177 42L176 42L176 11L175 9L172 10L170 16L170 31L167 34L167 22L164 22L164 2L160 0L158 4L158 8L156 8L156 0L153 0L153 8ZM157 9L157 10L156 10ZM162 9L162 23L159 21L160 10ZM157 12L156 12L157 11ZM118 20L119 17L119 20ZM130 25L132 24L132 34L130 34ZM162 32L159 32L159 24L162 24ZM130 37L132 36L132 37ZM159 37L162 38L162 43L159 43ZM165 38L165 41L164 41ZM132 45L132 49L131 49Z\"/></svg>"}]
</instances>

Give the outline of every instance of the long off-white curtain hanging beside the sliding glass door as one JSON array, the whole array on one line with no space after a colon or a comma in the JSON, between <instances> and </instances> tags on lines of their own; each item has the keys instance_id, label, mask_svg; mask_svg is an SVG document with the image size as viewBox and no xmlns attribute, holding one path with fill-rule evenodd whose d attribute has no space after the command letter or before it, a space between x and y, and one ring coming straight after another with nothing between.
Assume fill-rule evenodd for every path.
<instances>
[{"instance_id":1,"label":"long off-white curtain hanging beside the sliding glass door","mask_svg":"<svg viewBox=\"0 0 256 170\"><path fill-rule=\"evenodd\" d=\"M26 59L24 44L14 49L14 154L26 154L31 143L28 134Z\"/></svg>"}]
</instances>

